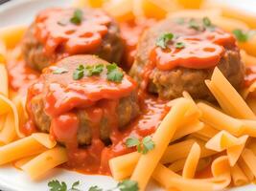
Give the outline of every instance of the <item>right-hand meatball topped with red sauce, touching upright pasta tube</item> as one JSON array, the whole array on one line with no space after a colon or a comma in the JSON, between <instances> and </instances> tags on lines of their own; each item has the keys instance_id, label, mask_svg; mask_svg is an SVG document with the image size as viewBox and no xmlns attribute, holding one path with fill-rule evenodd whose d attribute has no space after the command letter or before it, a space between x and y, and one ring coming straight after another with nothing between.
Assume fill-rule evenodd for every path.
<instances>
[{"instance_id":1,"label":"right-hand meatball topped with red sauce, touching upright pasta tube","mask_svg":"<svg viewBox=\"0 0 256 191\"><path fill-rule=\"evenodd\" d=\"M206 25L207 23L203 22L204 19L181 18L174 20L168 18L144 32L129 74L138 83L143 84L145 90L165 99L182 96L182 92L187 91L194 98L213 100L204 80L211 77L216 66L236 89L240 89L244 81L244 64L241 61L240 50L235 38L232 34L213 26L210 20L207 20L209 22ZM161 50L165 57L156 57L152 64L152 51L157 47L156 42L159 41L159 36L164 33L172 33L173 39L167 43L167 50ZM214 47L214 51L207 46ZM160 48L158 47L158 49ZM204 57L199 65L197 62L193 63L195 57L199 62L202 60L198 59L200 56L211 54L210 52L215 52L218 49L220 53L215 55L216 63L211 64L213 61L210 56ZM177 56L177 53L183 54L175 59L175 67L168 70L159 67L159 63L164 59L174 61L173 58ZM191 56L190 60L186 60L187 55ZM168 58L166 58L167 56Z\"/></svg>"}]
</instances>

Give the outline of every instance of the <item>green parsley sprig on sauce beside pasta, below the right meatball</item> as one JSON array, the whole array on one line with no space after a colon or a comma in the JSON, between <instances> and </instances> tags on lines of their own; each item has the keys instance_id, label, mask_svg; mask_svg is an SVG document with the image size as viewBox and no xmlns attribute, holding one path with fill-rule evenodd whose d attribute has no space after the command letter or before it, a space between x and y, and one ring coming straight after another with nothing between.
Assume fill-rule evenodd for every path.
<instances>
[{"instance_id":1,"label":"green parsley sprig on sauce beside pasta, below the right meatball","mask_svg":"<svg viewBox=\"0 0 256 191\"><path fill-rule=\"evenodd\" d=\"M136 146L138 153L147 154L154 148L154 142L150 136L143 138L141 141L138 138L128 138L126 140L128 147Z\"/></svg>"}]
</instances>

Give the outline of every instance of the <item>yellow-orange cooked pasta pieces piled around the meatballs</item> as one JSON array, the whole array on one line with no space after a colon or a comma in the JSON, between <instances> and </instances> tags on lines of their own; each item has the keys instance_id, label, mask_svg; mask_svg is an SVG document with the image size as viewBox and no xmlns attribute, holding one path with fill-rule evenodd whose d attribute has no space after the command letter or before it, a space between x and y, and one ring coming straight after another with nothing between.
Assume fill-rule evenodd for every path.
<instances>
[{"instance_id":1,"label":"yellow-orange cooked pasta pieces piled around the meatballs","mask_svg":"<svg viewBox=\"0 0 256 191\"><path fill-rule=\"evenodd\" d=\"M76 6L84 6L78 1ZM213 23L232 32L248 30L256 25L243 15L226 17L225 10L178 11L186 1L121 0L86 1L92 7L104 7L119 21L133 17L163 18L180 15L208 16ZM182 3L183 2L183 3ZM198 7L201 1L197 1ZM186 4L186 3L185 3ZM188 6L189 5L183 5ZM179 6L178 6L179 5ZM18 43L24 26L0 32L0 165L14 165L36 180L47 171L67 161L65 148L48 134L35 133L24 137L19 126L27 120L25 97L9 91L6 61L19 56ZM17 48L15 48L17 46ZM245 66L256 66L256 35L240 42ZM129 153L109 160L115 180L136 180L144 190L152 178L169 190L220 190L230 185L250 183L256 177L256 82L238 93L215 68L212 78L205 81L220 107L204 100L193 100L186 92L168 103L172 108L152 136L155 144L148 154ZM196 174L210 166L211 178L199 179Z\"/></svg>"}]
</instances>

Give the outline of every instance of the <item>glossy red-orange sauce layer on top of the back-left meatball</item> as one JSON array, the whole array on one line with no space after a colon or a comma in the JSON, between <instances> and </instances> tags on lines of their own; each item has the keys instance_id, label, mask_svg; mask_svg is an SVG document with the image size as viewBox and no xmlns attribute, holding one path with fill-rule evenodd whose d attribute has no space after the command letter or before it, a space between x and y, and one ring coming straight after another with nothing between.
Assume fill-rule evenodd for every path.
<instances>
[{"instance_id":1,"label":"glossy red-orange sauce layer on top of the back-left meatball","mask_svg":"<svg viewBox=\"0 0 256 191\"><path fill-rule=\"evenodd\" d=\"M81 10L81 22L70 19L75 9L48 9L35 18L35 37L53 60L78 53L93 53L107 33L110 17L104 11ZM80 19L80 18L79 18Z\"/></svg>"}]
</instances>

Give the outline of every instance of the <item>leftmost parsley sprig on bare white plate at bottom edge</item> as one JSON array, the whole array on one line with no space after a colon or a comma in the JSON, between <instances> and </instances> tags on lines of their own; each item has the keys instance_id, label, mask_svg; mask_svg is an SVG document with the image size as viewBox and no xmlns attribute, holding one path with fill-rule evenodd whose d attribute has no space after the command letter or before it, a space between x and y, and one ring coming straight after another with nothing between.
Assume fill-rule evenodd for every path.
<instances>
[{"instance_id":1,"label":"leftmost parsley sprig on bare white plate at bottom edge","mask_svg":"<svg viewBox=\"0 0 256 191\"><path fill-rule=\"evenodd\" d=\"M58 180L51 180L48 182L48 187L50 187L50 191L80 191L77 188L79 186L80 181L76 181L72 184L70 189L67 189L67 184L64 181L59 182Z\"/></svg>"}]
</instances>

